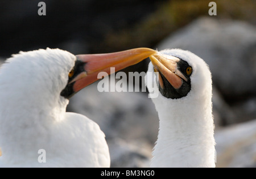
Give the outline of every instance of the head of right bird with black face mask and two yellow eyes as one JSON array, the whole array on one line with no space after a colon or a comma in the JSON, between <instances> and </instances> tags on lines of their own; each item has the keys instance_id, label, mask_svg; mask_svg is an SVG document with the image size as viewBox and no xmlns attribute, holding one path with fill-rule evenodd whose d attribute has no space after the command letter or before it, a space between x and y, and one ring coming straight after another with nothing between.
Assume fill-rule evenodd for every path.
<instances>
[{"instance_id":1,"label":"head of right bird with black face mask and two yellow eyes","mask_svg":"<svg viewBox=\"0 0 256 179\"><path fill-rule=\"evenodd\" d=\"M158 90L167 99L183 99L190 93L202 96L212 90L208 65L195 54L181 49L167 49L150 56L148 72L155 73ZM151 78L152 75L147 75ZM148 80L148 79L147 79Z\"/></svg>"}]
</instances>

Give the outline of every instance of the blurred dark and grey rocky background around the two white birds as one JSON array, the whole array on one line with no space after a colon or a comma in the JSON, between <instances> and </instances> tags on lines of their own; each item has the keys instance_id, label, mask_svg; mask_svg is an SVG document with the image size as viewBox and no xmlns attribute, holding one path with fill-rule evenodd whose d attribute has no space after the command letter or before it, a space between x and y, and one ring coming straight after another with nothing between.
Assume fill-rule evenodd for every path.
<instances>
[{"instance_id":1,"label":"blurred dark and grey rocky background around the two white birds","mask_svg":"<svg viewBox=\"0 0 256 179\"><path fill-rule=\"evenodd\" d=\"M47 47L73 54L191 50L212 71L217 167L256 167L255 0L214 1L216 16L208 14L206 0L44 0L46 16L38 15L39 2L0 2L2 62L20 50ZM148 59L124 71L147 65ZM100 125L112 167L149 166L159 121L147 92L100 93L96 82L68 110Z\"/></svg>"}]
</instances>

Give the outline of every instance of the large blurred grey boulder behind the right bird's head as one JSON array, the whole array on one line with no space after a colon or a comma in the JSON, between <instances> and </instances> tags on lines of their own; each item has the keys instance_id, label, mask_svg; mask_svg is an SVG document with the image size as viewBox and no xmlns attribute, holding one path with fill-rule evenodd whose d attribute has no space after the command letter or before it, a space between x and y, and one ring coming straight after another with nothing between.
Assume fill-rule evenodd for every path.
<instances>
[{"instance_id":1,"label":"large blurred grey boulder behind the right bird's head","mask_svg":"<svg viewBox=\"0 0 256 179\"><path fill-rule=\"evenodd\" d=\"M225 97L256 95L256 28L245 22L200 18L172 34L158 50L181 48L203 58Z\"/></svg>"}]
</instances>

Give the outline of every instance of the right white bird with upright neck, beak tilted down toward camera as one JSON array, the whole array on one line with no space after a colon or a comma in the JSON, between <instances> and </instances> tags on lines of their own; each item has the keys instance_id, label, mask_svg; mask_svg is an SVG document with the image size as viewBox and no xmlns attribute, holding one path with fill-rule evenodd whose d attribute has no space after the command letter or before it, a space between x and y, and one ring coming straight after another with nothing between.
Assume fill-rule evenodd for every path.
<instances>
[{"instance_id":1,"label":"right white bird with upright neck, beak tilted down toward camera","mask_svg":"<svg viewBox=\"0 0 256 179\"><path fill-rule=\"evenodd\" d=\"M181 49L166 49L150 59L146 82L159 84L154 88L160 91L151 97L159 116L151 167L215 167L212 77L207 63Z\"/></svg>"}]
</instances>

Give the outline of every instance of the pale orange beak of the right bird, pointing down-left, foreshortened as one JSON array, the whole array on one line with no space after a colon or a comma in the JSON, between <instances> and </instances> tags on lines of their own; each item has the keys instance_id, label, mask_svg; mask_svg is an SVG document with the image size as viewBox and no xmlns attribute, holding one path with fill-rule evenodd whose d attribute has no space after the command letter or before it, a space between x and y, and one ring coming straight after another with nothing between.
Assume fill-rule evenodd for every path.
<instances>
[{"instance_id":1,"label":"pale orange beak of the right bird, pointing down-left, foreshortened","mask_svg":"<svg viewBox=\"0 0 256 179\"><path fill-rule=\"evenodd\" d=\"M155 71L160 72L175 89L179 89L182 86L182 79L187 81L187 78L177 69L177 62L180 61L179 58L156 53L150 56L150 60ZM163 79L160 75L159 83L163 88Z\"/></svg>"}]
</instances>

